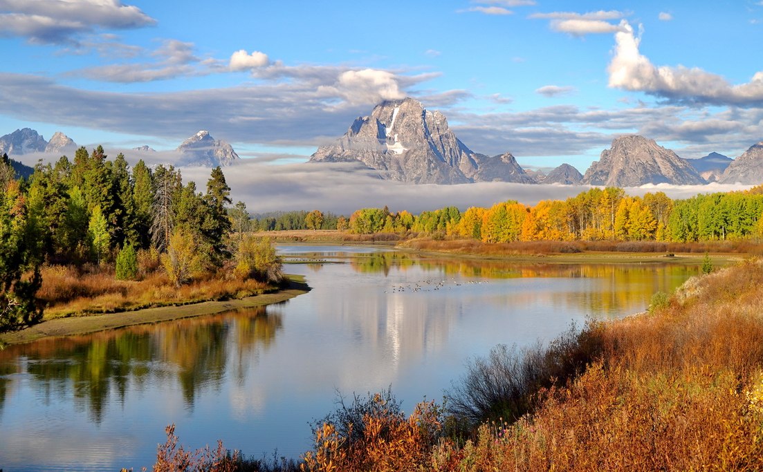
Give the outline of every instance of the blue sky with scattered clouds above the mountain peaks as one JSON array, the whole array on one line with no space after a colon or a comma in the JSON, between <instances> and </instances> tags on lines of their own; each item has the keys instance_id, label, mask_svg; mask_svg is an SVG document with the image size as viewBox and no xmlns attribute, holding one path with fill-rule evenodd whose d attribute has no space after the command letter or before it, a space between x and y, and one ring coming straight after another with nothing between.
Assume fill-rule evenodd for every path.
<instances>
[{"instance_id":1,"label":"blue sky with scattered clouds above the mountain peaks","mask_svg":"<svg viewBox=\"0 0 763 472\"><path fill-rule=\"evenodd\" d=\"M640 133L695 158L763 140L763 2L0 0L0 134L306 160L412 96L472 150L584 172ZM280 159L280 160L279 160Z\"/></svg>"}]
</instances>

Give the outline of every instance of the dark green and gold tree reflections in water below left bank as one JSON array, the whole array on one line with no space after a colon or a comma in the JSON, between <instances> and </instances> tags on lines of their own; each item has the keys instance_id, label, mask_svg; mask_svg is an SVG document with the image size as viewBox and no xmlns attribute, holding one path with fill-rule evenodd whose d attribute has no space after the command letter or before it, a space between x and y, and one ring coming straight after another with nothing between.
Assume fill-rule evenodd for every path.
<instances>
[{"instance_id":1,"label":"dark green and gold tree reflections in water below left bank","mask_svg":"<svg viewBox=\"0 0 763 472\"><path fill-rule=\"evenodd\" d=\"M95 423L109 402L124 404L127 390L143 391L156 380L175 380L192 408L200 390L219 392L227 369L243 377L280 329L282 314L259 307L11 345L0 351L0 405L18 374L31 376L44 404L71 393Z\"/></svg>"}]
</instances>

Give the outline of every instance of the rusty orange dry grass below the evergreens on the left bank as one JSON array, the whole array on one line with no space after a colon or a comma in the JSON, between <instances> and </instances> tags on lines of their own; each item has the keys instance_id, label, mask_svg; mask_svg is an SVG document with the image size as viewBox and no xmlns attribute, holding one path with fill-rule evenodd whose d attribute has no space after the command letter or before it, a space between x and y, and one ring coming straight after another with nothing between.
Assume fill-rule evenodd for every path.
<instances>
[{"instance_id":1,"label":"rusty orange dry grass below the evergreens on the left bank","mask_svg":"<svg viewBox=\"0 0 763 472\"><path fill-rule=\"evenodd\" d=\"M118 281L108 268L78 270L54 265L43 268L42 275L43 285L37 297L46 305L46 319L243 298L272 290L253 279L242 281L222 276L178 288L160 272L152 272L141 281Z\"/></svg>"}]
</instances>

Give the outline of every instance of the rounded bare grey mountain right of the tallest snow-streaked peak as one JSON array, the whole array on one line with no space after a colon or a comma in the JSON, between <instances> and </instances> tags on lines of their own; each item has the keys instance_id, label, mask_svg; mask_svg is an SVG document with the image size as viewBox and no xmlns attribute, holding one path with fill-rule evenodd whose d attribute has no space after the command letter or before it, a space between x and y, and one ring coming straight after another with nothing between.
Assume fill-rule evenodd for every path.
<instances>
[{"instance_id":1,"label":"rounded bare grey mountain right of the tallest snow-streaked peak","mask_svg":"<svg viewBox=\"0 0 763 472\"><path fill-rule=\"evenodd\" d=\"M701 185L697 170L671 151L643 136L620 136L585 172L583 183L613 187L644 184Z\"/></svg>"}]
</instances>

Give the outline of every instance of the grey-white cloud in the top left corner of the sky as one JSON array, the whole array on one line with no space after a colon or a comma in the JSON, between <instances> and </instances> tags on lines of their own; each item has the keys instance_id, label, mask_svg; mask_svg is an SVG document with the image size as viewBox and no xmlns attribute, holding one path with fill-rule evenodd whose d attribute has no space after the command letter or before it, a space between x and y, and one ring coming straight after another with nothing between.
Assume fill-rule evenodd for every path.
<instances>
[{"instance_id":1,"label":"grey-white cloud in the top left corner of the sky","mask_svg":"<svg viewBox=\"0 0 763 472\"><path fill-rule=\"evenodd\" d=\"M82 33L130 29L156 20L118 0L0 0L0 35L25 37L31 43L76 43Z\"/></svg>"}]
</instances>

